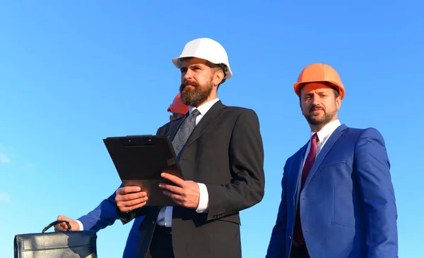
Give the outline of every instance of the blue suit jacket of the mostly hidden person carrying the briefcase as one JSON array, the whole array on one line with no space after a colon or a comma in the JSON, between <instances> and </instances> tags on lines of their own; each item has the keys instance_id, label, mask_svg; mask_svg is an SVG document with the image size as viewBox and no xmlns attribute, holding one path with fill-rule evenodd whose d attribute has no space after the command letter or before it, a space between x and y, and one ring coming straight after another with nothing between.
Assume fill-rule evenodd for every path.
<instances>
[{"instance_id":1,"label":"blue suit jacket of the mostly hidden person carrying the briefcase","mask_svg":"<svg viewBox=\"0 0 424 258\"><path fill-rule=\"evenodd\" d=\"M117 203L114 199L115 195L116 193L114 192L109 198L104 199L93 211L90 211L87 215L78 219L78 221L83 223L85 231L100 231L100 229L112 225L114 221L119 219L116 211ZM129 231L128 239L126 240L123 258L136 257L140 238L139 226L143 218L144 216L140 216L134 220L131 231Z\"/></svg>"}]
</instances>

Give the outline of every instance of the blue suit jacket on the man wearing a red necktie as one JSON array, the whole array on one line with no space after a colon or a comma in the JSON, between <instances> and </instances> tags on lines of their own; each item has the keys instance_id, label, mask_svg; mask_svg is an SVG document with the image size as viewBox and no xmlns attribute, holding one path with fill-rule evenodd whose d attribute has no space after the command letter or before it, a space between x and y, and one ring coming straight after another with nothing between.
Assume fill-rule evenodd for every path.
<instances>
[{"instance_id":1,"label":"blue suit jacket on the man wearing a red necktie","mask_svg":"<svg viewBox=\"0 0 424 258\"><path fill-rule=\"evenodd\" d=\"M397 211L382 135L340 125L319 152L305 185L307 145L285 163L281 204L266 258L288 258L295 214L312 258L396 258Z\"/></svg>"}]
</instances>

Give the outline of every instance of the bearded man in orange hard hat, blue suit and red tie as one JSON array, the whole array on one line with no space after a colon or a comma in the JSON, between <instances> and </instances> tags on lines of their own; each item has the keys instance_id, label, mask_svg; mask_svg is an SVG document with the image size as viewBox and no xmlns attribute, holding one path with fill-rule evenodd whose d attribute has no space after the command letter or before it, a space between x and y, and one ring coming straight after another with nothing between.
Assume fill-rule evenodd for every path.
<instances>
[{"instance_id":1,"label":"bearded man in orange hard hat, blue suit and red tie","mask_svg":"<svg viewBox=\"0 0 424 258\"><path fill-rule=\"evenodd\" d=\"M266 258L397 257L397 211L382 135L338 121L345 89L331 66L307 66L294 90L310 140L285 163Z\"/></svg>"}]
</instances>

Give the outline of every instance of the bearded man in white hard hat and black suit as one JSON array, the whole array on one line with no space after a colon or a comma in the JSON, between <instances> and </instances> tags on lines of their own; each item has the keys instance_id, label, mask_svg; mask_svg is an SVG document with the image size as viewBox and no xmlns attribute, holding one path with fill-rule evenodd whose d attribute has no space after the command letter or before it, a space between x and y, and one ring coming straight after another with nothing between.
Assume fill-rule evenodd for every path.
<instances>
[{"instance_id":1,"label":"bearded man in white hard hat and black suit","mask_svg":"<svg viewBox=\"0 0 424 258\"><path fill-rule=\"evenodd\" d=\"M218 87L231 78L225 49L213 39L188 42L172 59L181 70L184 118L159 128L169 135L184 180L163 173L175 207L145 207L139 187L117 190L122 223L145 216L137 257L242 257L240 216L264 196L264 149L252 109L225 106Z\"/></svg>"}]
</instances>

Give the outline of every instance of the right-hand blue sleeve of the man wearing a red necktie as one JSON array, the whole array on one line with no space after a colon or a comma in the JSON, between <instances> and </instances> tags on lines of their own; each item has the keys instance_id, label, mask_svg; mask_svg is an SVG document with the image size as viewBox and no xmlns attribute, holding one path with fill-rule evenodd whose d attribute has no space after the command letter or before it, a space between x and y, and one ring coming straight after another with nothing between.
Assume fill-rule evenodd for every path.
<instances>
[{"instance_id":1,"label":"right-hand blue sleeve of the man wearing a red necktie","mask_svg":"<svg viewBox=\"0 0 424 258\"><path fill-rule=\"evenodd\" d=\"M374 128L358 138L355 168L365 209L367 258L396 258L397 210L390 163L384 139Z\"/></svg>"}]
</instances>

